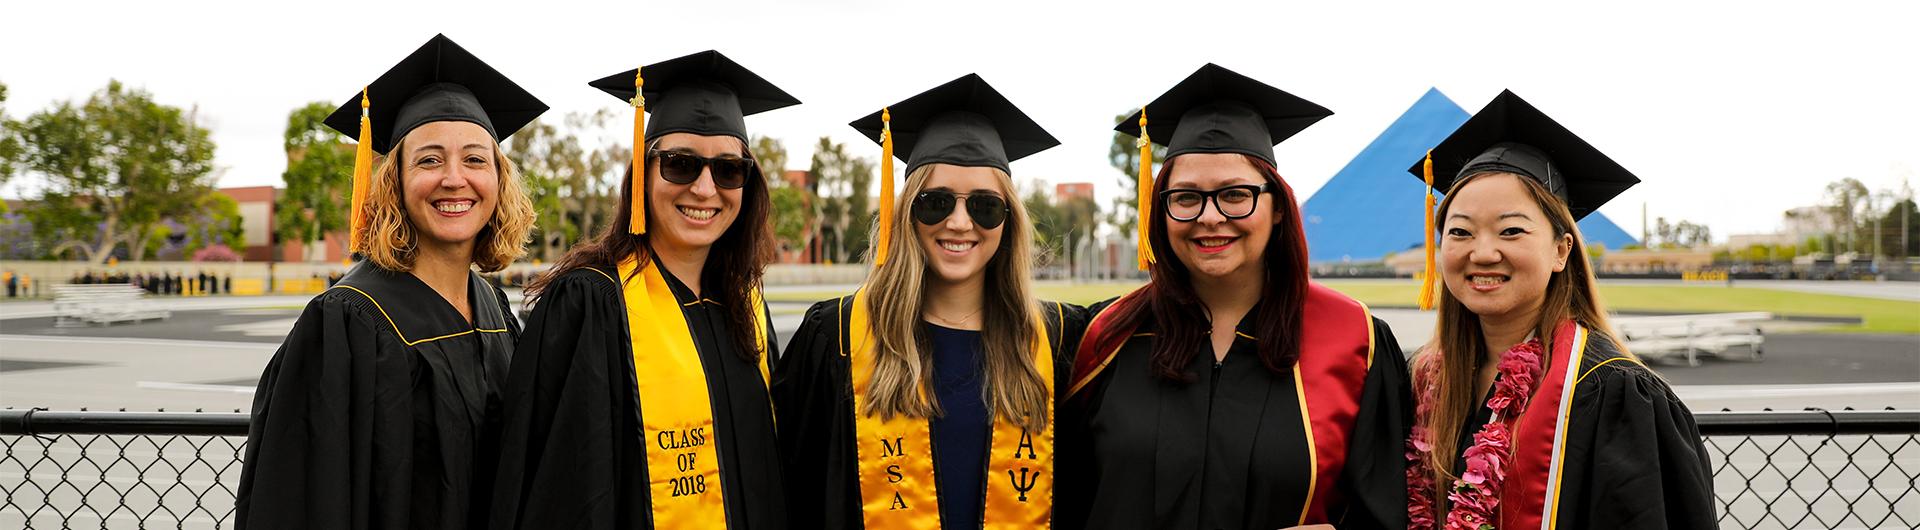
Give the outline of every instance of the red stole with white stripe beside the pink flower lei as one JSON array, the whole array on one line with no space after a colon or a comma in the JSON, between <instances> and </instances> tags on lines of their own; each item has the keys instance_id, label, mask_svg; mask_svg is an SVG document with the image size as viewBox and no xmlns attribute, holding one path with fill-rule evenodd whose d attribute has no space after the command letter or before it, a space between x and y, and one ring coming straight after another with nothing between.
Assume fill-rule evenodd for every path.
<instances>
[{"instance_id":1,"label":"red stole with white stripe beside the pink flower lei","mask_svg":"<svg viewBox=\"0 0 1920 530\"><path fill-rule=\"evenodd\" d=\"M1586 326L1565 321L1553 328L1553 351L1540 388L1526 411L1513 422L1513 461L1507 482L1500 488L1500 528L1553 528L1557 524L1559 486L1567 459L1567 421L1580 378L1592 369L1580 369L1580 359L1592 334ZM1615 357L1603 363L1628 361Z\"/></svg>"}]
</instances>

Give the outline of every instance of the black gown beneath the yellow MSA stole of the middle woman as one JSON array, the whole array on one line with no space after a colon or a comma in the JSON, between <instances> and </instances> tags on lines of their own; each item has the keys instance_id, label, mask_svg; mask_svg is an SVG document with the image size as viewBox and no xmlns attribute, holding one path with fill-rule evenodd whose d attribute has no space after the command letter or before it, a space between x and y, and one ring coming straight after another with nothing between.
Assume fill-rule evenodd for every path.
<instances>
[{"instance_id":1,"label":"black gown beneath the yellow MSA stole of the middle woman","mask_svg":"<svg viewBox=\"0 0 1920 530\"><path fill-rule=\"evenodd\" d=\"M1087 309L1041 303L1054 348L1054 409L1066 396L1073 351L1087 330ZM774 365L774 409L780 413L780 453L787 472L787 503L795 528L864 528L860 515L858 447L854 447L852 378L845 319L852 298L814 303ZM987 432L985 436L991 436ZM1058 440L1058 424L1056 424ZM939 453L939 438L933 451ZM1056 461L1058 461L1056 442ZM933 470L939 474L939 469ZM1058 469L1056 469L1056 476ZM985 480L985 476L981 476ZM1066 488L1064 480L1056 480ZM985 482L981 490L985 490ZM945 497L945 492L937 492ZM979 492L975 492L977 495ZM1058 505L1054 507L1058 513Z\"/></svg>"}]
</instances>

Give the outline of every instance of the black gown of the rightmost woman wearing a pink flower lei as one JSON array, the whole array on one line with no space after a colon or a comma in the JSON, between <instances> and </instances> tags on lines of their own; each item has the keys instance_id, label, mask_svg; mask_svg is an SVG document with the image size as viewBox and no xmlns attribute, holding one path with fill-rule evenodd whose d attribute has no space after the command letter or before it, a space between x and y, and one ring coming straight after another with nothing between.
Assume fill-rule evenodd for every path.
<instances>
[{"instance_id":1,"label":"black gown of the rightmost woman wearing a pink flower lei","mask_svg":"<svg viewBox=\"0 0 1920 530\"><path fill-rule=\"evenodd\" d=\"M1619 346L1597 334L1582 353L1555 528L1718 528L1713 470L1693 411L1659 374L1619 357ZM1455 476L1465 470L1473 434L1492 415L1482 396L1478 413L1461 426ZM1446 515L1434 518L1444 522Z\"/></svg>"}]
</instances>

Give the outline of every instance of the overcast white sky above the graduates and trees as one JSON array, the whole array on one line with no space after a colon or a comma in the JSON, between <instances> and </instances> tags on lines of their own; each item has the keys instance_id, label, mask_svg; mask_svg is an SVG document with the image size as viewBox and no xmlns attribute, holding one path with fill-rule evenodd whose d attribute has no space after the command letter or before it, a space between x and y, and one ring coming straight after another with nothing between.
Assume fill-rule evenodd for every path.
<instances>
[{"instance_id":1,"label":"overcast white sky above the graduates and trees","mask_svg":"<svg viewBox=\"0 0 1920 530\"><path fill-rule=\"evenodd\" d=\"M1467 111L1513 88L1640 175L1605 211L1764 232L1855 177L1920 181L1916 2L10 2L0 83L19 119L108 79L198 106L221 186L278 184L286 113L342 102L445 33L568 111L620 108L586 83L720 50L804 104L749 117L804 169L822 134L981 73L1064 146L1018 181L1091 181L1116 113L1206 61L1334 111L1277 150L1302 196L1428 86ZM616 132L628 134L622 121ZM1415 182L1407 181L1409 186ZM6 192L19 194L19 186Z\"/></svg>"}]
</instances>

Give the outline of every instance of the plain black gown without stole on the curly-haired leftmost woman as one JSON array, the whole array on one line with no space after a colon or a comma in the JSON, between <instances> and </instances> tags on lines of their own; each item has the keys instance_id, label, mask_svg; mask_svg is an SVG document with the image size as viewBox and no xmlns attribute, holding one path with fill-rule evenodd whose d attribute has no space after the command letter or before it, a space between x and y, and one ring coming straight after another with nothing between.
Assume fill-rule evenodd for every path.
<instances>
[{"instance_id":1,"label":"plain black gown without stole on the curly-haired leftmost woman","mask_svg":"<svg viewBox=\"0 0 1920 530\"><path fill-rule=\"evenodd\" d=\"M253 394L236 528L470 528L520 332L468 275L472 323L361 261L307 301Z\"/></svg>"}]
</instances>

